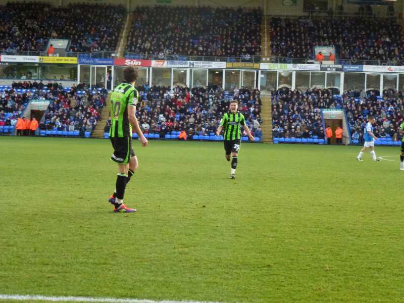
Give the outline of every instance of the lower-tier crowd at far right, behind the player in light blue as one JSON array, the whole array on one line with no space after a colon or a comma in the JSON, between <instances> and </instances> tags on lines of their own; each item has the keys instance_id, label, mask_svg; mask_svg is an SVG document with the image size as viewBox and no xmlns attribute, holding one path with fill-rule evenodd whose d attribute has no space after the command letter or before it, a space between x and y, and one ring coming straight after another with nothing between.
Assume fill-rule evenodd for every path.
<instances>
[{"instance_id":1,"label":"lower-tier crowd at far right, behind the player in light blue","mask_svg":"<svg viewBox=\"0 0 404 303\"><path fill-rule=\"evenodd\" d=\"M353 96L343 95L343 108L348 119L353 140L359 143L364 142L364 129L368 122L368 117L376 118L374 125L374 134L378 138L391 138L392 141L401 139L398 129L404 116L403 93L395 91L385 91L383 98L378 98L374 92L365 98L354 98Z\"/></svg>"}]
</instances>

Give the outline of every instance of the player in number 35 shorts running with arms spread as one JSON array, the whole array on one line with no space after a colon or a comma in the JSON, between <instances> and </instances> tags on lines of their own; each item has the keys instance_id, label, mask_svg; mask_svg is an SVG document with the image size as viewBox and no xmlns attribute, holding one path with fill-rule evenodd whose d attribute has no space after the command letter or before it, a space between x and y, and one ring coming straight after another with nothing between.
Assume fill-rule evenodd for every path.
<instances>
[{"instance_id":1,"label":"player in number 35 shorts running with arms spread","mask_svg":"<svg viewBox=\"0 0 404 303\"><path fill-rule=\"evenodd\" d=\"M222 129L224 129L224 149L226 150L227 161L230 161L230 156L232 157L230 179L234 179L236 173L238 150L241 143L240 124L247 133L248 138L254 141L254 136L251 135L248 126L245 124L244 116L241 113L237 113L237 109L237 101L233 100L230 102L230 112L223 115L216 132L216 135L219 136Z\"/></svg>"}]
</instances>

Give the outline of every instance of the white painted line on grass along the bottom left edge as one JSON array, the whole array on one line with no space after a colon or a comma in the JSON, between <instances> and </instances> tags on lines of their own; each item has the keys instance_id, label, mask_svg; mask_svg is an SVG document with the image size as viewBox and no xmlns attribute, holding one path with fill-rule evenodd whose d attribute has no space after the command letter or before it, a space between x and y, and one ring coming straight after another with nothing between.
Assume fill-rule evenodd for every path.
<instances>
[{"instance_id":1,"label":"white painted line on grass along the bottom left edge","mask_svg":"<svg viewBox=\"0 0 404 303\"><path fill-rule=\"evenodd\" d=\"M1 300L31 300L31 301L52 301L52 302L110 302L110 303L219 303L206 301L155 301L148 299L117 299L117 298L91 298L74 296L44 296L44 295L19 295L0 294ZM223 302L222 302L223 303Z\"/></svg>"}]
</instances>

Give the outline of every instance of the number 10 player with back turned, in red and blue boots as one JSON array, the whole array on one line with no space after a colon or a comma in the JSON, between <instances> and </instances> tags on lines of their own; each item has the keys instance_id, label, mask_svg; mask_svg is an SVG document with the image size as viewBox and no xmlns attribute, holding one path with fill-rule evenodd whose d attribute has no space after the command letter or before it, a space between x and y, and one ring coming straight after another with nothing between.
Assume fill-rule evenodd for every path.
<instances>
[{"instance_id":1,"label":"number 10 player with back turned, in red and blue boots","mask_svg":"<svg viewBox=\"0 0 404 303\"><path fill-rule=\"evenodd\" d=\"M133 213L135 209L123 204L126 184L138 168L137 158L132 148L132 127L139 135L142 146L147 146L147 139L140 130L136 119L136 103L139 92L134 88L137 69L133 66L123 71L125 83L119 84L111 94L111 128L110 139L114 147L111 160L118 163L118 177L114 194L109 201L114 205L114 212Z\"/></svg>"}]
</instances>

